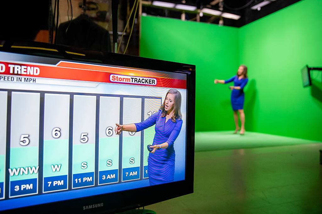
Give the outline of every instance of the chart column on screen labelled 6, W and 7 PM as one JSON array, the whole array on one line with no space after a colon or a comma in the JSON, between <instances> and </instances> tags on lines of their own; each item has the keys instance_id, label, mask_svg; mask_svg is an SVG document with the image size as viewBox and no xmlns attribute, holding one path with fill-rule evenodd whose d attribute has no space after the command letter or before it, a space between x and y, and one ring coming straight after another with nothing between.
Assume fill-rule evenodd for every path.
<instances>
[{"instance_id":1,"label":"chart column on screen labelled 6, W and 7 PM","mask_svg":"<svg viewBox=\"0 0 322 214\"><path fill-rule=\"evenodd\" d=\"M43 141L43 192L68 189L68 94L45 94Z\"/></svg>"}]
</instances>

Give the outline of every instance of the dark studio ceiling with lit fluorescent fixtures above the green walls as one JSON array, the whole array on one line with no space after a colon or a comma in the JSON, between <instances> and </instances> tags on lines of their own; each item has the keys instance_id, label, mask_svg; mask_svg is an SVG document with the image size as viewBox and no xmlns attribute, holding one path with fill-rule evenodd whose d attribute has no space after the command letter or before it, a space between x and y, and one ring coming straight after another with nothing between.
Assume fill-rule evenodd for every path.
<instances>
[{"instance_id":1,"label":"dark studio ceiling with lit fluorescent fixtures above the green walls","mask_svg":"<svg viewBox=\"0 0 322 214\"><path fill-rule=\"evenodd\" d=\"M209 8L217 11L220 10L220 0L159 0L163 2L169 2L174 4L185 4L196 6L197 9ZM233 27L241 27L245 24L248 24L252 21L260 19L266 15L274 13L284 7L287 7L291 4L298 2L299 0L223 0L223 12L231 13L239 15L240 18L238 20L223 18L223 25L226 26L233 26ZM146 1L151 2L153 1ZM265 4L258 8L258 4ZM253 9L251 9L253 7ZM258 8L258 9L254 9ZM154 16L162 16L162 17L170 17L170 18L177 18L181 19L182 11L180 10L172 10L169 8L162 8L162 7L155 7L153 5L148 6L143 4L142 12L146 13L147 15L154 15ZM185 19L196 21L196 12L185 12ZM205 14L200 17L201 22L209 22L214 24L219 24L221 17L216 15L209 15Z\"/></svg>"}]
</instances>

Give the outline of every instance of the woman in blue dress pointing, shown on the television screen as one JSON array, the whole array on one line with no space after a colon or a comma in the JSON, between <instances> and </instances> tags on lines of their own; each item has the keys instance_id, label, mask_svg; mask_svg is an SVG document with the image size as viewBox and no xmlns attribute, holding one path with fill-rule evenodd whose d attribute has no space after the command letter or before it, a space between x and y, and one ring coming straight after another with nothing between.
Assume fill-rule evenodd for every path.
<instances>
[{"instance_id":1,"label":"woman in blue dress pointing, shown on the television screen","mask_svg":"<svg viewBox=\"0 0 322 214\"><path fill-rule=\"evenodd\" d=\"M116 124L115 133L122 131L139 132L152 125L156 134L148 157L148 175L150 185L173 182L175 174L175 150L173 147L182 127L181 94L170 89L157 113L141 123Z\"/></svg>"}]
</instances>

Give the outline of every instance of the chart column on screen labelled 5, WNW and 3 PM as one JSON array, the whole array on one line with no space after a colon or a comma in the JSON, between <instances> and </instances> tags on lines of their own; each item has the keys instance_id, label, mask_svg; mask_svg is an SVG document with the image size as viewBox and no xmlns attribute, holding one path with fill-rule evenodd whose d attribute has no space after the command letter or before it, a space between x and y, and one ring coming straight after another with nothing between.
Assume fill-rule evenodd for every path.
<instances>
[{"instance_id":1,"label":"chart column on screen labelled 5, WNW and 3 PM","mask_svg":"<svg viewBox=\"0 0 322 214\"><path fill-rule=\"evenodd\" d=\"M38 193L40 93L12 92L9 197Z\"/></svg>"}]
</instances>

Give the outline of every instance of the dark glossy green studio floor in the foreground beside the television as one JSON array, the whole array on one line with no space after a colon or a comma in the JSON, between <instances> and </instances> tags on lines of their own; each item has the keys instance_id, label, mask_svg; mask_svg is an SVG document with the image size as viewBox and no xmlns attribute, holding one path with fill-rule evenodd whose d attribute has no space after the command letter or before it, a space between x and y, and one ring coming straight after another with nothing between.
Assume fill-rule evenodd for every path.
<instances>
[{"instance_id":1,"label":"dark glossy green studio floor in the foreground beside the television","mask_svg":"<svg viewBox=\"0 0 322 214\"><path fill-rule=\"evenodd\" d=\"M169 213L322 213L322 143L195 153L194 193L145 209Z\"/></svg>"}]
</instances>

